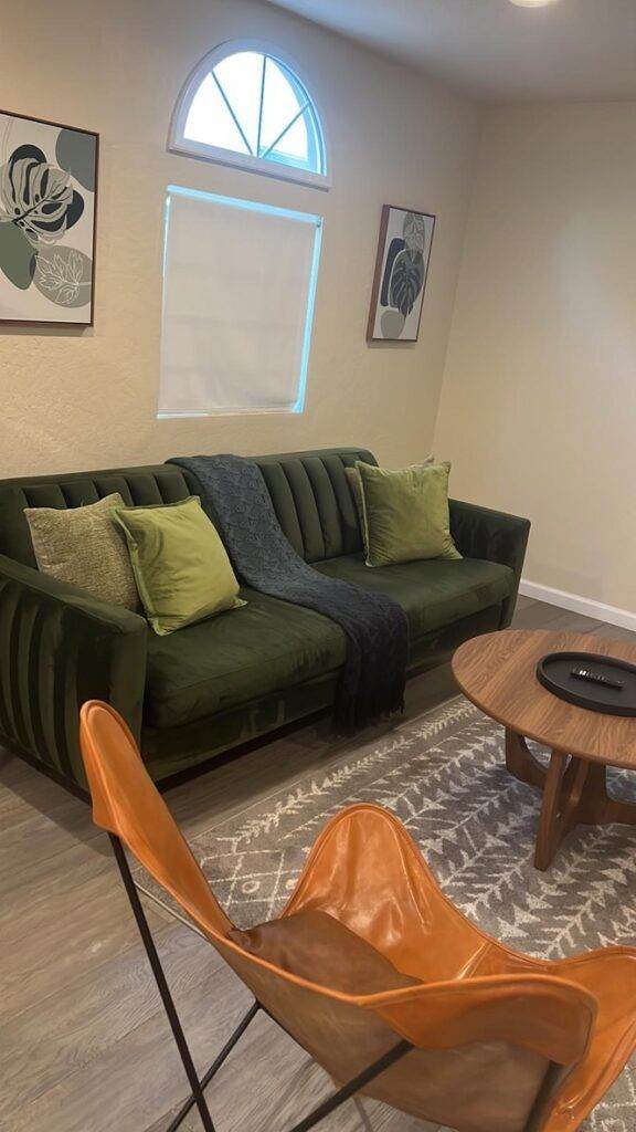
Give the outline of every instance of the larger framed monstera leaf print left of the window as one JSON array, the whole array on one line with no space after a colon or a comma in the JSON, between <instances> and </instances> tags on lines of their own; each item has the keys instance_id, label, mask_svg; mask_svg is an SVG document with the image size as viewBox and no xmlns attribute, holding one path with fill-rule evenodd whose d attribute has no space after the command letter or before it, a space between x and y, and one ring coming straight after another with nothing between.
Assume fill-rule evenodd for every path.
<instances>
[{"instance_id":1,"label":"larger framed monstera leaf print left of the window","mask_svg":"<svg viewBox=\"0 0 636 1132\"><path fill-rule=\"evenodd\" d=\"M98 137L0 111L0 321L92 326Z\"/></svg>"}]
</instances>

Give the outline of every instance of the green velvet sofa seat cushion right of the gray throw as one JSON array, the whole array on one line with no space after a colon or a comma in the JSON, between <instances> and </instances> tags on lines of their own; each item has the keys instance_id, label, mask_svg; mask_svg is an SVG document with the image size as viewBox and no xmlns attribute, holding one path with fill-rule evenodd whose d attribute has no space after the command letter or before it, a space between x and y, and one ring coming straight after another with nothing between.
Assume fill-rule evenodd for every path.
<instances>
[{"instance_id":1,"label":"green velvet sofa seat cushion right of the gray throw","mask_svg":"<svg viewBox=\"0 0 636 1132\"><path fill-rule=\"evenodd\" d=\"M499 604L515 584L508 566L479 558L432 558L371 569L359 554L318 563L316 568L397 601L406 614L412 643L426 633Z\"/></svg>"}]
</instances>

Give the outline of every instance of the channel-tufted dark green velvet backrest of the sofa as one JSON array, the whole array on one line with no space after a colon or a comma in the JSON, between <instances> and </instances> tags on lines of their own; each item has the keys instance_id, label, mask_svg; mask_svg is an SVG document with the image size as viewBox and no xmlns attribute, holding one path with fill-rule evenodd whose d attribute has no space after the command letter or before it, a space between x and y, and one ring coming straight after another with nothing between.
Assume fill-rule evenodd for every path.
<instances>
[{"instance_id":1,"label":"channel-tufted dark green velvet backrest of the sofa","mask_svg":"<svg viewBox=\"0 0 636 1132\"><path fill-rule=\"evenodd\" d=\"M356 460L375 464L370 452L325 448L252 458L263 472L281 526L306 561L361 549L344 469ZM186 474L175 464L0 480L0 554L35 566L25 507L80 507L113 491L129 506L177 503L191 494Z\"/></svg>"}]
</instances>

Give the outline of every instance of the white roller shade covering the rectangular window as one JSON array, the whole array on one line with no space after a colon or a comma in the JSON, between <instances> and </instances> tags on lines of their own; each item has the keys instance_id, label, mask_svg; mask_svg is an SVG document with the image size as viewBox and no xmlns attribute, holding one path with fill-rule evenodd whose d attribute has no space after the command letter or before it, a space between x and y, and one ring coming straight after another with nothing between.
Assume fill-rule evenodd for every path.
<instances>
[{"instance_id":1,"label":"white roller shade covering the rectangular window","mask_svg":"<svg viewBox=\"0 0 636 1132\"><path fill-rule=\"evenodd\" d=\"M171 186L160 415L301 412L321 220Z\"/></svg>"}]
</instances>

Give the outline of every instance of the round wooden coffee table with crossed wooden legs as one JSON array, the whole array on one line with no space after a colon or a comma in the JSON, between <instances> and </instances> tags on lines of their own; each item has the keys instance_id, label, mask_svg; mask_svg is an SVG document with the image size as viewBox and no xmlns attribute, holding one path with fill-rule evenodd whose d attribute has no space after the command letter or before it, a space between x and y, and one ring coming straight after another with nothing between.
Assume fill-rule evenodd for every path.
<instances>
[{"instance_id":1,"label":"round wooden coffee table with crossed wooden legs","mask_svg":"<svg viewBox=\"0 0 636 1132\"><path fill-rule=\"evenodd\" d=\"M466 641L453 658L464 695L506 728L506 766L543 792L534 864L545 869L575 825L636 825L636 804L607 790L607 767L636 771L636 719L603 715L568 704L536 679L548 652L571 650L636 664L636 646L588 634L505 629ZM527 739L551 749L548 769Z\"/></svg>"}]
</instances>

